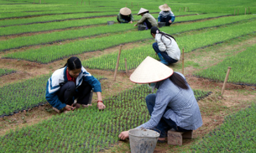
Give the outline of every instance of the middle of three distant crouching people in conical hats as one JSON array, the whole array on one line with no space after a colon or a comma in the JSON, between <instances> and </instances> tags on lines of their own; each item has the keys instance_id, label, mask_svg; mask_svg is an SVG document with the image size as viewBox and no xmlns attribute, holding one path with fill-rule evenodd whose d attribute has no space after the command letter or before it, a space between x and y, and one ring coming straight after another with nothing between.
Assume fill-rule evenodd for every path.
<instances>
[{"instance_id":1,"label":"middle of three distant crouching people in conical hats","mask_svg":"<svg viewBox=\"0 0 256 153\"><path fill-rule=\"evenodd\" d=\"M137 26L138 24L146 24L146 30L157 26L157 20L149 13L148 10L140 8L138 15L141 15L142 18L134 26Z\"/></svg>"}]
</instances>

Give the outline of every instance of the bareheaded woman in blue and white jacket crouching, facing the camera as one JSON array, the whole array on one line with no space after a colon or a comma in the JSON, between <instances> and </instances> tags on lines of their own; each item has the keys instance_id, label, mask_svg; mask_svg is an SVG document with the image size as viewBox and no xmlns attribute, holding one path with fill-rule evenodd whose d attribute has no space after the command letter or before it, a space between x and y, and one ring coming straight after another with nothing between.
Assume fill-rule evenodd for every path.
<instances>
[{"instance_id":1,"label":"bareheaded woman in blue and white jacket crouching, facing the camera","mask_svg":"<svg viewBox=\"0 0 256 153\"><path fill-rule=\"evenodd\" d=\"M68 59L66 65L53 72L46 86L46 99L54 108L64 112L87 106L91 90L97 93L98 109L104 109L100 82L82 67L77 57ZM74 99L77 103L73 106Z\"/></svg>"}]
</instances>

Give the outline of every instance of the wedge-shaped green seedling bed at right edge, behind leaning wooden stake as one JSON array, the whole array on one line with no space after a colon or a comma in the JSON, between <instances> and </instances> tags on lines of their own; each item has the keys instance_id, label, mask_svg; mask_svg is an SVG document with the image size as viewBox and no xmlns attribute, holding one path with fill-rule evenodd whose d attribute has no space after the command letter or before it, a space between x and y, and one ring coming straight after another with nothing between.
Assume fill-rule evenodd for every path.
<instances>
[{"instance_id":1,"label":"wedge-shaped green seedling bed at right edge, behind leaning wooden stake","mask_svg":"<svg viewBox=\"0 0 256 153\"><path fill-rule=\"evenodd\" d=\"M256 86L256 45L248 47L245 51L224 59L221 63L196 72L198 77L224 82L227 68L231 70L228 77L229 83Z\"/></svg>"}]
</instances>

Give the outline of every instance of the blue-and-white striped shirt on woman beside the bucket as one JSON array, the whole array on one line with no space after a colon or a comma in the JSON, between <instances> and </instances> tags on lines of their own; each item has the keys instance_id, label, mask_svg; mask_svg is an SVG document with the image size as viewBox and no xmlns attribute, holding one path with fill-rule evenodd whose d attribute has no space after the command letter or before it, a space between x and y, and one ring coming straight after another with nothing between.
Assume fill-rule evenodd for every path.
<instances>
[{"instance_id":1,"label":"blue-and-white striped shirt on woman beside the bucket","mask_svg":"<svg viewBox=\"0 0 256 153\"><path fill-rule=\"evenodd\" d=\"M184 79L184 75L180 74ZM154 128L163 117L173 120L177 126L186 130L196 130L202 126L203 121L197 100L193 90L181 89L173 84L169 79L160 81L156 85L156 103L151 115L151 119L138 126L144 128ZM165 109L167 111L164 113Z\"/></svg>"}]
</instances>

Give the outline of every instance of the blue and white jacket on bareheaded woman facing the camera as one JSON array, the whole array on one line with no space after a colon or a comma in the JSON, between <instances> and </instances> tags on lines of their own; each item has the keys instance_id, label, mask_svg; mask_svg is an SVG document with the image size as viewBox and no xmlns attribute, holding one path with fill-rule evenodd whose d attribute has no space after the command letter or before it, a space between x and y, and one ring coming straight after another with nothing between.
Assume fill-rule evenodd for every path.
<instances>
[{"instance_id":1,"label":"blue and white jacket on bareheaded woman facing the camera","mask_svg":"<svg viewBox=\"0 0 256 153\"><path fill-rule=\"evenodd\" d=\"M100 82L83 67L76 78L76 89L82 84L82 81L88 82L92 86L94 92L101 92ZM61 103L56 93L60 90L60 84L65 84L67 82L67 66L65 66L54 71L46 85L46 99L51 106L58 110L64 108L66 104Z\"/></svg>"}]
</instances>

